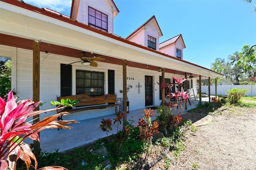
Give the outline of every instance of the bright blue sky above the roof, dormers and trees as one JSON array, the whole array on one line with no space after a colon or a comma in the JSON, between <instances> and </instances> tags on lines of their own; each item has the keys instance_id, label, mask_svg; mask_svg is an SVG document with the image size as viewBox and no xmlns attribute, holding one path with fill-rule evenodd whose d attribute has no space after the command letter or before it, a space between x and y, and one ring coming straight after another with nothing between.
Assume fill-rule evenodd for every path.
<instances>
[{"instance_id":1,"label":"bright blue sky above the roof, dormers and trees","mask_svg":"<svg viewBox=\"0 0 256 170\"><path fill-rule=\"evenodd\" d=\"M24 0L70 16L71 0ZM254 1L242 0L114 0L120 13L114 33L126 37L153 15L162 30L160 42L182 34L184 60L210 68L216 58L256 44Z\"/></svg>"}]
</instances>

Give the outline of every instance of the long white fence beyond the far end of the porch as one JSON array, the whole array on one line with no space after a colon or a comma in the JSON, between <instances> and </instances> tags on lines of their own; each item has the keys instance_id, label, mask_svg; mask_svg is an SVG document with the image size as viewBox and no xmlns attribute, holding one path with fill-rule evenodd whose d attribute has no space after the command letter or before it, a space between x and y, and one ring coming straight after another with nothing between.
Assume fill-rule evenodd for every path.
<instances>
[{"instance_id":1,"label":"long white fence beyond the far end of the porch","mask_svg":"<svg viewBox=\"0 0 256 170\"><path fill-rule=\"evenodd\" d=\"M256 85L218 85L217 95L226 95L227 91L233 88L249 89L246 96L256 96ZM208 86L202 86L202 93L208 93ZM210 86L210 95L215 95L215 85Z\"/></svg>"}]
</instances>

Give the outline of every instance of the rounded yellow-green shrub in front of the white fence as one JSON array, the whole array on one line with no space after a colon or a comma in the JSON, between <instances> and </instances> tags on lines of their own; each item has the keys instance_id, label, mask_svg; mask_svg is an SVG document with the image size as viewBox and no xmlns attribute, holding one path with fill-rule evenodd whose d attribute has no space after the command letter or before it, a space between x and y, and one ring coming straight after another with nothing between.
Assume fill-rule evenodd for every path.
<instances>
[{"instance_id":1,"label":"rounded yellow-green shrub in front of the white fence","mask_svg":"<svg viewBox=\"0 0 256 170\"><path fill-rule=\"evenodd\" d=\"M227 92L227 102L230 104L238 103L238 101L241 99L242 96L244 96L245 93L247 93L248 89L230 89Z\"/></svg>"}]
</instances>

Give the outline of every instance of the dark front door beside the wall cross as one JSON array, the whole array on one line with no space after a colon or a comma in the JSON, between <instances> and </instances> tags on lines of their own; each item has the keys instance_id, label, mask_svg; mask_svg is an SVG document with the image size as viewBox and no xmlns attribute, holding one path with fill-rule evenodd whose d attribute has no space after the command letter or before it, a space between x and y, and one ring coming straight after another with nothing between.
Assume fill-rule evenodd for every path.
<instances>
[{"instance_id":1,"label":"dark front door beside the wall cross","mask_svg":"<svg viewBox=\"0 0 256 170\"><path fill-rule=\"evenodd\" d=\"M153 77L145 75L145 106L153 105Z\"/></svg>"}]
</instances>

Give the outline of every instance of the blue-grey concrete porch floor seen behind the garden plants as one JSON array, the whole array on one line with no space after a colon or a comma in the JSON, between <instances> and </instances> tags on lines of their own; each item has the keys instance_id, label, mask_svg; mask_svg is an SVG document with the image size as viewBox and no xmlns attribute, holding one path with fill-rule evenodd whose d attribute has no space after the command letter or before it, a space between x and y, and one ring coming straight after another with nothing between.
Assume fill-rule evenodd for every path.
<instances>
[{"instance_id":1,"label":"blue-grey concrete porch floor seen behind the garden plants","mask_svg":"<svg viewBox=\"0 0 256 170\"><path fill-rule=\"evenodd\" d=\"M202 101L208 101L208 97L202 98ZM191 105L188 103L188 111L193 109L198 104L198 101L191 102ZM155 120L158 115L156 110L153 111L154 115L151 117L151 120ZM138 109L130 111L127 113L127 121L134 121L136 124L139 118L142 118L144 114L143 109ZM65 117L63 117L65 120ZM40 132L40 147L42 152L54 152L58 149L58 152L64 152L72 148L78 148L86 144L90 144L100 138L106 137L106 132L103 132L100 128L100 121L104 119L115 119L116 115L108 115L104 117L96 117L93 119L86 119L80 121L80 123L72 123L69 126L73 127L72 129L45 129ZM122 125L119 125L119 128L122 128ZM112 121L113 130L108 132L108 135L116 134L117 132L117 123L114 125ZM26 141L28 144L33 143L33 141Z\"/></svg>"}]
</instances>

